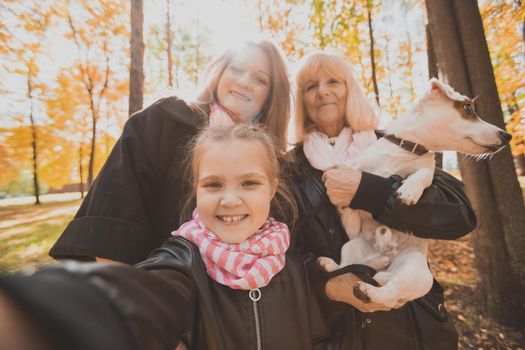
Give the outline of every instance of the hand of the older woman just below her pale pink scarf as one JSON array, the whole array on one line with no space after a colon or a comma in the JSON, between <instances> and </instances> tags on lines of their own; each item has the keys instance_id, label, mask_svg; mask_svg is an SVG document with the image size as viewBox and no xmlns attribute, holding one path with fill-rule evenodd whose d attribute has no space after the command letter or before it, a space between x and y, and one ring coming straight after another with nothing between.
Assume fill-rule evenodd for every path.
<instances>
[{"instance_id":1,"label":"hand of the older woman just below her pale pink scarf","mask_svg":"<svg viewBox=\"0 0 525 350\"><path fill-rule=\"evenodd\" d=\"M336 207L347 207L357 192L361 172L346 165L338 165L324 172L323 181L330 202Z\"/></svg>"}]
</instances>

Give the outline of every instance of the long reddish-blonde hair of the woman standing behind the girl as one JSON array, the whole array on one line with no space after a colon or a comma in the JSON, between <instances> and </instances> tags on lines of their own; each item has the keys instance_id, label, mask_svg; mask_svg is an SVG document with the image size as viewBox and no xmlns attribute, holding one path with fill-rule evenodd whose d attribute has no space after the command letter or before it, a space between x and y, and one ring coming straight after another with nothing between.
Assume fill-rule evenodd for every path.
<instances>
[{"instance_id":1,"label":"long reddish-blonde hair of the woman standing behind the girl","mask_svg":"<svg viewBox=\"0 0 525 350\"><path fill-rule=\"evenodd\" d=\"M246 41L239 48L226 51L213 61L206 71L204 87L190 107L208 115L210 105L216 101L217 86L224 70L240 50L258 48L270 61L270 94L262 108L259 121L275 137L280 152L286 151L287 128L290 120L290 80L283 56L277 47L267 40Z\"/></svg>"}]
</instances>

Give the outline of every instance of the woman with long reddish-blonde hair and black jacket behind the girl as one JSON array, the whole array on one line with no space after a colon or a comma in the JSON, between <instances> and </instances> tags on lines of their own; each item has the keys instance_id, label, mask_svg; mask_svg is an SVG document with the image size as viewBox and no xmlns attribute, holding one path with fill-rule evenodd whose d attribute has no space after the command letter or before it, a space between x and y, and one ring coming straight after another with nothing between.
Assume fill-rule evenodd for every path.
<instances>
[{"instance_id":1,"label":"woman with long reddish-blonde hair and black jacket behind the girl","mask_svg":"<svg viewBox=\"0 0 525 350\"><path fill-rule=\"evenodd\" d=\"M225 52L208 68L196 101L168 97L131 116L50 255L144 260L180 226L188 193L182 162L199 126L262 124L284 151L289 96L286 64L272 43L249 41Z\"/></svg>"}]
</instances>

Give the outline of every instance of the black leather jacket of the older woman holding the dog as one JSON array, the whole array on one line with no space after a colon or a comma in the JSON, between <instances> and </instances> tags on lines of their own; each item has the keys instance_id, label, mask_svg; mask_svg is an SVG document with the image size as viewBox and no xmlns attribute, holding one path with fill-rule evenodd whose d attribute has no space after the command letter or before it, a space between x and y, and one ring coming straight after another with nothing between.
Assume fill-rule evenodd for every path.
<instances>
[{"instance_id":1,"label":"black leather jacket of the older woman holding the dog","mask_svg":"<svg viewBox=\"0 0 525 350\"><path fill-rule=\"evenodd\" d=\"M348 237L326 194L322 172L310 165L301 146L291 151L290 158L289 183L299 207L291 249L307 263L311 283L332 331L332 348L456 348L457 341L450 336L455 333L453 325L443 307L443 289L436 281L427 296L390 312L365 314L326 297L324 287L328 275L319 270L315 261L319 256L339 261L341 247ZM395 191L401 181L398 176L382 178L363 173L350 207L366 210L377 221L421 238L457 239L475 228L476 216L460 181L436 169L432 185L414 206L405 206L396 200ZM426 330L419 329L418 323L424 322L414 315L444 322L444 331L448 333L435 331L429 337L422 336Z\"/></svg>"}]
</instances>

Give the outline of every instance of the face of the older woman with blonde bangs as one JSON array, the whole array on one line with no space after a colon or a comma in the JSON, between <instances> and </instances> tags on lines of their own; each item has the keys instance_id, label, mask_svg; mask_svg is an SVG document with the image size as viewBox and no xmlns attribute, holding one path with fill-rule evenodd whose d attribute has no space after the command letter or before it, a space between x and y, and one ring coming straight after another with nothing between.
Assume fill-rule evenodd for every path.
<instances>
[{"instance_id":1,"label":"face of the older woman with blonde bangs","mask_svg":"<svg viewBox=\"0 0 525 350\"><path fill-rule=\"evenodd\" d=\"M346 83L321 70L306 82L303 89L306 117L316 128L334 137L345 125Z\"/></svg>"}]
</instances>

